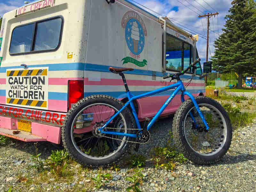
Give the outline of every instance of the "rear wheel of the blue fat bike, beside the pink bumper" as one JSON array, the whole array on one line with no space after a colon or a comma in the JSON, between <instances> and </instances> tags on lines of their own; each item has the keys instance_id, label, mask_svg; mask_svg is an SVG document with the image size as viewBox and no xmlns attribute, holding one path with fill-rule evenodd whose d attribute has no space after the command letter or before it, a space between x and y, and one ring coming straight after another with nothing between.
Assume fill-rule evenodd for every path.
<instances>
[{"instance_id":1,"label":"rear wheel of the blue fat bike, beside the pink bumper","mask_svg":"<svg viewBox=\"0 0 256 192\"><path fill-rule=\"evenodd\" d=\"M86 166L105 166L117 161L129 149L133 138L101 134L99 129L123 103L107 95L93 95L78 101L69 111L62 127L62 140L69 154ZM104 131L133 133L134 119L124 109Z\"/></svg>"}]
</instances>

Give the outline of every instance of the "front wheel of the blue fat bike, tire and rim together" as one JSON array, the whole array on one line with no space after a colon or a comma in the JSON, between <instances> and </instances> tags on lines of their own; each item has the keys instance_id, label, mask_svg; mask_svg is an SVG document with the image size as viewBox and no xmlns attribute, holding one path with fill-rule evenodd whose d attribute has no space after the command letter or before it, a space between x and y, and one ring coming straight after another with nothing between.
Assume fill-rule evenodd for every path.
<instances>
[{"instance_id":1,"label":"front wheel of the blue fat bike, tire and rim together","mask_svg":"<svg viewBox=\"0 0 256 192\"><path fill-rule=\"evenodd\" d=\"M213 164L224 156L230 147L232 128L225 109L208 97L196 97L200 111L206 119L209 130L200 116L189 115L195 110L192 100L186 100L176 111L173 119L173 136L184 156L196 164Z\"/></svg>"}]
</instances>

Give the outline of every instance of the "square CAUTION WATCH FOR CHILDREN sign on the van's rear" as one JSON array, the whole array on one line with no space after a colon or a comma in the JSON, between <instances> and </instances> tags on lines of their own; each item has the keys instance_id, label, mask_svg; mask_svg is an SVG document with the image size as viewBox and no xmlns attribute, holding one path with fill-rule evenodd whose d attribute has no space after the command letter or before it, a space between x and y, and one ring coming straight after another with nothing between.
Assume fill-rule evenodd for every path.
<instances>
[{"instance_id":1,"label":"square CAUTION WATCH FOR CHILDREN sign on the van's rear","mask_svg":"<svg viewBox=\"0 0 256 192\"><path fill-rule=\"evenodd\" d=\"M48 108L48 68L7 69L6 104Z\"/></svg>"}]
</instances>

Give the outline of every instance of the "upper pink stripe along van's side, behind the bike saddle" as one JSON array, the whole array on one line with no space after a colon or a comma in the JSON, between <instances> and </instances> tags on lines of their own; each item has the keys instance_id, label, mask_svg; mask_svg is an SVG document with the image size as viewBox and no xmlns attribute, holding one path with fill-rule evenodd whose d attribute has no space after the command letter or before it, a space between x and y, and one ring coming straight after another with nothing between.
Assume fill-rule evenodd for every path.
<instances>
[{"instance_id":1,"label":"upper pink stripe along van's side, behind the bike saddle","mask_svg":"<svg viewBox=\"0 0 256 192\"><path fill-rule=\"evenodd\" d=\"M126 80L129 85L143 85L143 86L167 86L174 84L175 82L167 81L146 81L146 80ZM84 78L85 85L124 85L122 79L105 79L101 78L100 81L89 81L88 78ZM187 83L184 83L184 86ZM191 83L190 86L204 86L204 83Z\"/></svg>"}]
</instances>

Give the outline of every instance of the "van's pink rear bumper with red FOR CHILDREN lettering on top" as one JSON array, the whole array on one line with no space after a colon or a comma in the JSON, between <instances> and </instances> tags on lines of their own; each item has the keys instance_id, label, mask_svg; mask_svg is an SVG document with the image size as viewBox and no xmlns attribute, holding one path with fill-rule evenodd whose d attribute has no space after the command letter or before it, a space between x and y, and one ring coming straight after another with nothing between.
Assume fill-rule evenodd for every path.
<instances>
[{"instance_id":1,"label":"van's pink rear bumper with red FOR CHILDREN lettering on top","mask_svg":"<svg viewBox=\"0 0 256 192\"><path fill-rule=\"evenodd\" d=\"M65 116L66 113L0 105L0 135L22 141L50 141L60 144ZM31 121L31 133L13 133L18 129L18 119Z\"/></svg>"}]
</instances>

